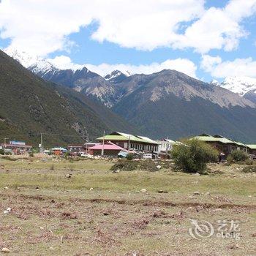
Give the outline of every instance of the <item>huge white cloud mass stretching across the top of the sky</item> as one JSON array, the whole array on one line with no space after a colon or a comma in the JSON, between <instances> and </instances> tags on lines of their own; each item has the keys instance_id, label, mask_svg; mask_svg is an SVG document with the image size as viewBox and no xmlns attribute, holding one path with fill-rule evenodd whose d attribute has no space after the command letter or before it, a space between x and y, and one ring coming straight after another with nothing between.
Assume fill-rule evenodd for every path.
<instances>
[{"instance_id":1,"label":"huge white cloud mass stretching across the top of the sky","mask_svg":"<svg viewBox=\"0 0 256 256\"><path fill-rule=\"evenodd\" d=\"M47 56L70 48L69 34L96 21L91 37L122 47L233 50L247 34L240 23L255 13L255 4L230 0L224 9L205 10L204 0L2 0L0 36L10 38L12 48Z\"/></svg>"}]
</instances>

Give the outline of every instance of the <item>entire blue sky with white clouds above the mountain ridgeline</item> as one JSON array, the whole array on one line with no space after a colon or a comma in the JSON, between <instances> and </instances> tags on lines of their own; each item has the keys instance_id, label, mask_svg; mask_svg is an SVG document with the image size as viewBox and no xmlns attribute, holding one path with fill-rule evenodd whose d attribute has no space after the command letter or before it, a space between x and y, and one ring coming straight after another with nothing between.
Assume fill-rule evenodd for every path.
<instances>
[{"instance_id":1,"label":"entire blue sky with white clouds above the mountain ridgeline","mask_svg":"<svg viewBox=\"0 0 256 256\"><path fill-rule=\"evenodd\" d=\"M99 75L256 78L256 0L0 0L0 48Z\"/></svg>"}]
</instances>

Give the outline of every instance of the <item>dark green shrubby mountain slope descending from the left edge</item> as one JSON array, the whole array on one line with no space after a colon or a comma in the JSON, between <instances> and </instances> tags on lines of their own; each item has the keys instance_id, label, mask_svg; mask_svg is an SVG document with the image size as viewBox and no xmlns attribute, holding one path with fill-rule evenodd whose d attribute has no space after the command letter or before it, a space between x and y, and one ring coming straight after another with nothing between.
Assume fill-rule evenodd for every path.
<instances>
[{"instance_id":1,"label":"dark green shrubby mountain slope descending from the left edge","mask_svg":"<svg viewBox=\"0 0 256 256\"><path fill-rule=\"evenodd\" d=\"M108 108L64 86L45 82L0 51L0 140L53 146L92 140L103 130L134 132Z\"/></svg>"}]
</instances>

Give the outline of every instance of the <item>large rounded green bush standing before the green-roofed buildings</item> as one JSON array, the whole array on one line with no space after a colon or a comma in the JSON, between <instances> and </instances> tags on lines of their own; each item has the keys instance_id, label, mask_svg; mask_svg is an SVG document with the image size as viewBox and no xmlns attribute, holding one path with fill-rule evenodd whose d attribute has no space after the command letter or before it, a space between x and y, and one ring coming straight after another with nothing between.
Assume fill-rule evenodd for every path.
<instances>
[{"instance_id":1,"label":"large rounded green bush standing before the green-roofed buildings","mask_svg":"<svg viewBox=\"0 0 256 256\"><path fill-rule=\"evenodd\" d=\"M203 141L192 139L174 146L171 155L178 169L187 173L203 173L208 162L218 161L219 152Z\"/></svg>"}]
</instances>

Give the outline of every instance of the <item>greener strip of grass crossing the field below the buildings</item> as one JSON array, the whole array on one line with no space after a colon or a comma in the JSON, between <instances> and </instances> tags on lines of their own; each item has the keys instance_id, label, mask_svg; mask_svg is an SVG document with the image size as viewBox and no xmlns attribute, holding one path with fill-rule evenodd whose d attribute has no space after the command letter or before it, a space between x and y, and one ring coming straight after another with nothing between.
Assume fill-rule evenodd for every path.
<instances>
[{"instance_id":1,"label":"greener strip of grass crossing the field below the buildings","mask_svg":"<svg viewBox=\"0 0 256 256\"><path fill-rule=\"evenodd\" d=\"M55 170L48 173L1 173L0 187L29 187L38 186L42 189L89 189L94 187L101 190L140 191L146 188L156 192L178 190L182 193L195 191L211 192L229 195L254 195L256 180L252 178L225 178L222 176L194 176L185 173L157 173L132 171L118 174L110 171L75 173L66 177L67 171Z\"/></svg>"}]
</instances>

